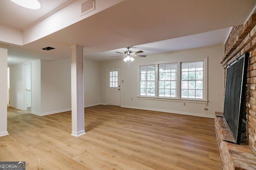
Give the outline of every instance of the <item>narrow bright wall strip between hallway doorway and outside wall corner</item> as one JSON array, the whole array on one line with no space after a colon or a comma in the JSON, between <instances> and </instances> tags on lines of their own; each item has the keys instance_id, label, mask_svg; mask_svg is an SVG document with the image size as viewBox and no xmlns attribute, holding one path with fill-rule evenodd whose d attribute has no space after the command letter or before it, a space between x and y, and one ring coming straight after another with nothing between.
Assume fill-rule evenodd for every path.
<instances>
[{"instance_id":1,"label":"narrow bright wall strip between hallway doorway and outside wall corner","mask_svg":"<svg viewBox=\"0 0 256 170\"><path fill-rule=\"evenodd\" d=\"M31 62L31 113L41 114L41 61Z\"/></svg>"}]
</instances>

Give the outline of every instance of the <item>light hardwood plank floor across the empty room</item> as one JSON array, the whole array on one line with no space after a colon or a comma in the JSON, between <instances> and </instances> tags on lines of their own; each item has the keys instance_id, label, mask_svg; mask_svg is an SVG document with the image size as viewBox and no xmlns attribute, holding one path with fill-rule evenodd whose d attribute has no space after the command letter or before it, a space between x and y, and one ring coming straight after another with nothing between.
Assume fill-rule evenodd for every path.
<instances>
[{"instance_id":1,"label":"light hardwood plank floor across the empty room","mask_svg":"<svg viewBox=\"0 0 256 170\"><path fill-rule=\"evenodd\" d=\"M85 108L86 134L73 137L71 111L39 117L8 107L0 161L27 170L221 169L214 119L116 106Z\"/></svg>"}]
</instances>

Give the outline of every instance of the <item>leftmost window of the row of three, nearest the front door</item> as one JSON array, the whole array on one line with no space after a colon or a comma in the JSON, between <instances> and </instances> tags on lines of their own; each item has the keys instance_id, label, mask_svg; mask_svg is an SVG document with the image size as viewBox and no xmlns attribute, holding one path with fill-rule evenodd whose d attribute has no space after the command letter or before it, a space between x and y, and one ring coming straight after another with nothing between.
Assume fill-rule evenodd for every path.
<instances>
[{"instance_id":1,"label":"leftmost window of the row of three, nearest the front door","mask_svg":"<svg viewBox=\"0 0 256 170\"><path fill-rule=\"evenodd\" d=\"M155 96L155 65L140 66L140 96Z\"/></svg>"}]
</instances>

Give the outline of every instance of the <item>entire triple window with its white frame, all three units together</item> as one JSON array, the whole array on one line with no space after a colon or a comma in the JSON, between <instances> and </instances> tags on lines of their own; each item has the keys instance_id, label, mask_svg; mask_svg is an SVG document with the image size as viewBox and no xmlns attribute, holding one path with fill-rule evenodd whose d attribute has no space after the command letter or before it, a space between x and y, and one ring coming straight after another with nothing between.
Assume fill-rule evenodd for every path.
<instances>
[{"instance_id":1,"label":"entire triple window with its white frame, all three units together","mask_svg":"<svg viewBox=\"0 0 256 170\"><path fill-rule=\"evenodd\" d=\"M140 66L139 91L153 100L207 102L207 58Z\"/></svg>"}]
</instances>

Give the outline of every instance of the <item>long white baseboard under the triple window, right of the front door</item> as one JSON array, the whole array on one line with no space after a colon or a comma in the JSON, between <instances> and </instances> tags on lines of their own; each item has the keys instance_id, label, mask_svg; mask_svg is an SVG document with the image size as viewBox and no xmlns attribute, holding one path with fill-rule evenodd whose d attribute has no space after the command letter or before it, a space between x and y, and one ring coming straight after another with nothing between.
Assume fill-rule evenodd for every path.
<instances>
[{"instance_id":1,"label":"long white baseboard under the triple window, right of the front door","mask_svg":"<svg viewBox=\"0 0 256 170\"><path fill-rule=\"evenodd\" d=\"M198 114L198 113L188 113L188 112L181 112L181 111L172 111L172 110L163 110L163 109L152 109L152 108L133 107L133 106L121 106L121 107L126 107L126 108L131 108L131 109L162 111L162 112L176 113L176 114L181 114L181 115L190 115L190 116L214 118L214 115L202 115L202 114Z\"/></svg>"}]
</instances>

